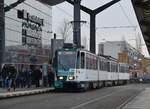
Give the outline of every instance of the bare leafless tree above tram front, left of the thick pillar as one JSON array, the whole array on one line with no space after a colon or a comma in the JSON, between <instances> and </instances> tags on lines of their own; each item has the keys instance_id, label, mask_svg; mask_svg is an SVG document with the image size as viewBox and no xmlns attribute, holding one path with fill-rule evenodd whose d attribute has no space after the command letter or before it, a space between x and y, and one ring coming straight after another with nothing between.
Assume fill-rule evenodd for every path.
<instances>
[{"instance_id":1,"label":"bare leafless tree above tram front, left of the thick pillar","mask_svg":"<svg viewBox=\"0 0 150 109\"><path fill-rule=\"evenodd\" d=\"M72 33L72 27L68 19L63 19L59 29L58 29L59 34L62 36L64 39L64 42L66 39L71 35Z\"/></svg>"}]
</instances>

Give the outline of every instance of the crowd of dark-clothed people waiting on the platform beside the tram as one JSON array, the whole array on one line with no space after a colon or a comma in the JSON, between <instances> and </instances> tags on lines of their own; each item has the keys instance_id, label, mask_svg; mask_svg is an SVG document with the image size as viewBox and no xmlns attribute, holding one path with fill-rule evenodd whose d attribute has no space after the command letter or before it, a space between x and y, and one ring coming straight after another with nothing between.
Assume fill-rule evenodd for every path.
<instances>
[{"instance_id":1,"label":"crowd of dark-clothed people waiting on the platform beside the tram","mask_svg":"<svg viewBox=\"0 0 150 109\"><path fill-rule=\"evenodd\" d=\"M2 78L2 87L10 91L11 88L15 91L16 88L30 88L32 85L40 87L40 81L43 79L42 68L35 66L30 69L17 70L14 65L4 65L0 76ZM48 68L47 83L53 86L54 72L52 68Z\"/></svg>"}]
</instances>

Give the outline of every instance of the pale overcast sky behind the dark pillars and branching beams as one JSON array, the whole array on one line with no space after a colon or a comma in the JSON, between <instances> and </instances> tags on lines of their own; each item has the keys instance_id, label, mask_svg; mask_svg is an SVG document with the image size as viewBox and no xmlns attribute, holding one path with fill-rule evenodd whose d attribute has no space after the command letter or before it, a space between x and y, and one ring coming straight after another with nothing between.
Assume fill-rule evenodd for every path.
<instances>
[{"instance_id":1,"label":"pale overcast sky behind the dark pillars and branching beams","mask_svg":"<svg viewBox=\"0 0 150 109\"><path fill-rule=\"evenodd\" d=\"M82 0L81 4L95 9L99 6L108 3L111 0ZM73 7L67 2L56 5L53 7L53 32L58 32L63 19L73 20ZM89 43L89 15L82 12L81 20L87 21L82 25L82 38L86 38ZM145 56L149 56L146 46L144 46L143 36L139 27L137 28L118 28L118 29L103 29L99 27L118 27L118 26L139 26L131 0L121 0L119 3L114 4L108 9L104 10L96 17L96 30L97 40L96 43L103 41L120 41L125 37L126 41L135 47L135 37L140 35L142 37L142 52Z\"/></svg>"}]
</instances>

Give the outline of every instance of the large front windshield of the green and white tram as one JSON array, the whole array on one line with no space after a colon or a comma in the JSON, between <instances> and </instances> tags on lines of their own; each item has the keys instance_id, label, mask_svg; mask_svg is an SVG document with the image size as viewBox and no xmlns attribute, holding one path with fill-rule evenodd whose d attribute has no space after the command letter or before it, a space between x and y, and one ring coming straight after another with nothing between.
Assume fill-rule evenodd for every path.
<instances>
[{"instance_id":1,"label":"large front windshield of the green and white tram","mask_svg":"<svg viewBox=\"0 0 150 109\"><path fill-rule=\"evenodd\" d=\"M61 51L58 52L58 69L68 71L70 68L75 68L76 52Z\"/></svg>"}]
</instances>

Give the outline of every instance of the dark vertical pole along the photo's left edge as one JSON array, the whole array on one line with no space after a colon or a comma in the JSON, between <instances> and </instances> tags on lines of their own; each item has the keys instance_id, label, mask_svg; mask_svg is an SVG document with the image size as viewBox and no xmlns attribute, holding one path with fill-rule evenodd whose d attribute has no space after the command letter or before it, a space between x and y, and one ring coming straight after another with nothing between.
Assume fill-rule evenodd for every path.
<instances>
[{"instance_id":1,"label":"dark vertical pole along the photo's left edge","mask_svg":"<svg viewBox=\"0 0 150 109\"><path fill-rule=\"evenodd\" d=\"M0 71L2 69L5 50L5 12L4 0L0 0Z\"/></svg>"}]
</instances>

